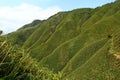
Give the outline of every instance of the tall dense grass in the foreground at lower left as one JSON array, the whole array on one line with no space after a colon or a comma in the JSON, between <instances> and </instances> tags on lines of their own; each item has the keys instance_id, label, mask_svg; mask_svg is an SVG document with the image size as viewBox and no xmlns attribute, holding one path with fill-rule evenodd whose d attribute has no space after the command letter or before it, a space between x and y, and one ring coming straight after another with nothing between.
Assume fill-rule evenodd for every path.
<instances>
[{"instance_id":1,"label":"tall dense grass in the foreground at lower left","mask_svg":"<svg viewBox=\"0 0 120 80\"><path fill-rule=\"evenodd\" d=\"M15 48L0 37L0 79L1 80L60 80L61 74L54 74L39 67L23 49Z\"/></svg>"}]
</instances>

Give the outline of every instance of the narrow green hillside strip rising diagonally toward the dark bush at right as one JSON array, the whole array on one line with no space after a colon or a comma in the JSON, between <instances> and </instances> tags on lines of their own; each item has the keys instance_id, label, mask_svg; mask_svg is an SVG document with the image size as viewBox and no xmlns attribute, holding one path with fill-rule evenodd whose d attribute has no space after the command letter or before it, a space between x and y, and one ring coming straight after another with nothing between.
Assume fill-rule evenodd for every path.
<instances>
[{"instance_id":1,"label":"narrow green hillside strip rising diagonally toward the dark bush at right","mask_svg":"<svg viewBox=\"0 0 120 80\"><path fill-rule=\"evenodd\" d=\"M91 56L96 53L96 51L98 51L106 43L106 41L107 40L105 39L96 41L80 49L80 51L78 51L76 55L74 55L74 57L63 68L63 73L67 75L76 68L82 66L87 60L89 60L89 58L91 58Z\"/></svg>"}]
</instances>

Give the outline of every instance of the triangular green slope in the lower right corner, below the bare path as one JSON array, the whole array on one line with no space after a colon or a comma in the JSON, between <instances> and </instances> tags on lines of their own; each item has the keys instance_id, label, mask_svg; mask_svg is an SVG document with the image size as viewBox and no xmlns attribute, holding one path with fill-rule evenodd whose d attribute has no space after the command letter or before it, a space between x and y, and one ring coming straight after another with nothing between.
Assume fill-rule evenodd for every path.
<instances>
[{"instance_id":1,"label":"triangular green slope in the lower right corner, below the bare path","mask_svg":"<svg viewBox=\"0 0 120 80\"><path fill-rule=\"evenodd\" d=\"M110 41L67 78L70 80L119 80L120 60L109 54L109 47Z\"/></svg>"}]
</instances>

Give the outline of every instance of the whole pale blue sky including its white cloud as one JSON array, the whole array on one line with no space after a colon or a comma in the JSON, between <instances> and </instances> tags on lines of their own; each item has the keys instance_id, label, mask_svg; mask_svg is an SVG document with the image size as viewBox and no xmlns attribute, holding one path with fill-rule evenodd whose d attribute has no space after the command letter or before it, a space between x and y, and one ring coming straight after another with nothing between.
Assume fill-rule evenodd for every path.
<instances>
[{"instance_id":1,"label":"whole pale blue sky including its white cloud","mask_svg":"<svg viewBox=\"0 0 120 80\"><path fill-rule=\"evenodd\" d=\"M115 0L0 0L0 30L13 32L35 19L76 8L95 8Z\"/></svg>"}]
</instances>

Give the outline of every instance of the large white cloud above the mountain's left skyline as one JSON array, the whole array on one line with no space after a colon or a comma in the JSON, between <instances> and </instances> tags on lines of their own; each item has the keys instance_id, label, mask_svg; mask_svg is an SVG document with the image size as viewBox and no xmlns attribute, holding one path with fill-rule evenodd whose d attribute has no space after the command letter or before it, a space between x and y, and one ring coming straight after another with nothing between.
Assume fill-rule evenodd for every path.
<instances>
[{"instance_id":1,"label":"large white cloud above the mountain's left skyline","mask_svg":"<svg viewBox=\"0 0 120 80\"><path fill-rule=\"evenodd\" d=\"M47 19L61 10L57 6L43 9L26 3L14 7L0 7L0 29L5 33L15 31L34 19Z\"/></svg>"}]
</instances>

